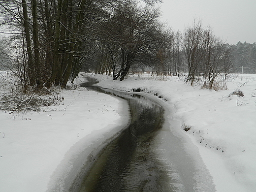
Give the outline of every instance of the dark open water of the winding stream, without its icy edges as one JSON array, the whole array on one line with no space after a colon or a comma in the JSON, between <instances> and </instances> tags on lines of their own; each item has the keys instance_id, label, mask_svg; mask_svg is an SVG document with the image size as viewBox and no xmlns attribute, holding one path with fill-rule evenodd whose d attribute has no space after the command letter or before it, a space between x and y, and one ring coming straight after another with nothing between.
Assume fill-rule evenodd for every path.
<instances>
[{"instance_id":1,"label":"dark open water of the winding stream, without its icy edges","mask_svg":"<svg viewBox=\"0 0 256 192\"><path fill-rule=\"evenodd\" d=\"M82 86L91 87L94 79ZM92 88L92 87L91 87ZM85 165L70 192L174 192L168 168L155 153L154 139L163 125L163 109L144 96L93 89L128 100L130 125Z\"/></svg>"}]
</instances>

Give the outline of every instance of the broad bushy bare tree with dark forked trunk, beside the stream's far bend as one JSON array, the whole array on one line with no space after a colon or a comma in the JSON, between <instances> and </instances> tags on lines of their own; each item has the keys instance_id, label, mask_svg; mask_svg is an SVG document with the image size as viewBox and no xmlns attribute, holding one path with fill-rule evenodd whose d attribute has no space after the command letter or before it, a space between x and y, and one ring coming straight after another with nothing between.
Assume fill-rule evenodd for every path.
<instances>
[{"instance_id":1,"label":"broad bushy bare tree with dark forked trunk, beside the stream's far bend","mask_svg":"<svg viewBox=\"0 0 256 192\"><path fill-rule=\"evenodd\" d=\"M163 27L159 16L159 10L154 7L142 8L125 1L118 4L108 22L102 24L104 41L115 46L120 56L120 68L113 75L114 79L122 81L133 64L142 64L150 57L156 59Z\"/></svg>"}]
</instances>

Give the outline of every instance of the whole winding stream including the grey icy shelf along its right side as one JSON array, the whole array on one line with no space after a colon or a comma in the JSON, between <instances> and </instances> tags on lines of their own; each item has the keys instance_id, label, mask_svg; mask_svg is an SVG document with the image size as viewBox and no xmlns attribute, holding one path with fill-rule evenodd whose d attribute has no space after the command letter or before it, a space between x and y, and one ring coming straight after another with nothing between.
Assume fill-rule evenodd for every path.
<instances>
[{"instance_id":1,"label":"whole winding stream including the grey icy shelf along its right side","mask_svg":"<svg viewBox=\"0 0 256 192\"><path fill-rule=\"evenodd\" d=\"M174 131L163 101L99 88L92 86L95 79L88 80L81 86L126 99L131 120L84 160L75 178L66 177L68 192L215 192L198 150Z\"/></svg>"}]
</instances>

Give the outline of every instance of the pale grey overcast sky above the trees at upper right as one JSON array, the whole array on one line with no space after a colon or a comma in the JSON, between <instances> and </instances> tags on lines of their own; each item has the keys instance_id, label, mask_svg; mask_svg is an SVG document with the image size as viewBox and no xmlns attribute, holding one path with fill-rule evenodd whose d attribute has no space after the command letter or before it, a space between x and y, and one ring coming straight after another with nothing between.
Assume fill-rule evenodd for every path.
<instances>
[{"instance_id":1,"label":"pale grey overcast sky above the trees at upper right","mask_svg":"<svg viewBox=\"0 0 256 192\"><path fill-rule=\"evenodd\" d=\"M163 0L160 7L175 32L199 18L229 44L256 42L256 0Z\"/></svg>"}]
</instances>

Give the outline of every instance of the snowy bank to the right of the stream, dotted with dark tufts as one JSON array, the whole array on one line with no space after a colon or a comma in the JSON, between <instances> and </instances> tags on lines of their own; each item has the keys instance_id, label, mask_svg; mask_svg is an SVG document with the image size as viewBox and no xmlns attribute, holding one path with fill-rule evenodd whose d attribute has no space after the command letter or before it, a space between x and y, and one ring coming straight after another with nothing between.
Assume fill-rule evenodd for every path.
<instances>
[{"instance_id":1,"label":"snowy bank to the right of the stream, dotted with dark tufts","mask_svg":"<svg viewBox=\"0 0 256 192\"><path fill-rule=\"evenodd\" d=\"M189 86L181 78L152 79L134 75L120 82L110 76L92 75L99 86L123 91L143 91L175 108L177 127L188 134L213 176L217 192L256 190L256 75L234 76L228 90ZM240 90L244 96L232 95ZM183 129L187 128L187 132Z\"/></svg>"}]
</instances>

